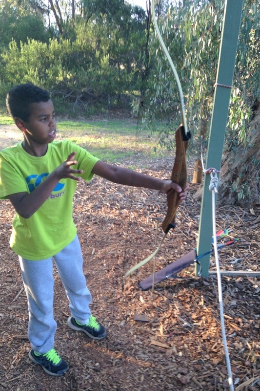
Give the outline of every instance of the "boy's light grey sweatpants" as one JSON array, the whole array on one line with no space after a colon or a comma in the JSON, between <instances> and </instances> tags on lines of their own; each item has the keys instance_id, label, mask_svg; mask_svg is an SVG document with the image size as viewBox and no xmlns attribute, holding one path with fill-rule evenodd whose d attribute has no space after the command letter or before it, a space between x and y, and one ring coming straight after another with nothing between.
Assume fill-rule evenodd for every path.
<instances>
[{"instance_id":1,"label":"boy's light grey sweatpants","mask_svg":"<svg viewBox=\"0 0 260 391\"><path fill-rule=\"evenodd\" d=\"M91 315L91 294L83 274L78 236L53 259L65 288L72 316L81 324L88 323ZM30 261L19 256L29 309L28 338L32 349L39 353L47 353L54 348L57 329L53 317L53 259Z\"/></svg>"}]
</instances>

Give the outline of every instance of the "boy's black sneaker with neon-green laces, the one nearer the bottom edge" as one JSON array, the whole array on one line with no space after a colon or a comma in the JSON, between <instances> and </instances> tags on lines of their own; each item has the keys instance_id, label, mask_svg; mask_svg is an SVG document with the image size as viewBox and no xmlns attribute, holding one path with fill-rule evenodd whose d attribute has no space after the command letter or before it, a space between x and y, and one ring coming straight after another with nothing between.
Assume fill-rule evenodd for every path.
<instances>
[{"instance_id":1,"label":"boy's black sneaker with neon-green laces, the one nearer the bottom edge","mask_svg":"<svg viewBox=\"0 0 260 391\"><path fill-rule=\"evenodd\" d=\"M31 349L29 351L29 358L33 363L39 364L46 373L52 376L61 376L69 369L66 361L60 358L55 349L51 349L44 354L36 353Z\"/></svg>"}]
</instances>

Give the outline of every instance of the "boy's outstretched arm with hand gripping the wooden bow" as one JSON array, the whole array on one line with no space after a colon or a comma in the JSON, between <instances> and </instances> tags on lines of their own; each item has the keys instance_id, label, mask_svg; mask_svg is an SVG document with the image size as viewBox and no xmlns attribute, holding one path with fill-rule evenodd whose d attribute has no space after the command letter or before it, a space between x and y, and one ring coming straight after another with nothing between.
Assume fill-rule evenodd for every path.
<instances>
[{"instance_id":1,"label":"boy's outstretched arm with hand gripping the wooden bow","mask_svg":"<svg viewBox=\"0 0 260 391\"><path fill-rule=\"evenodd\" d=\"M187 189L181 189L177 183L174 183L171 180L154 178L153 176L140 174L126 168L112 166L101 160L95 164L92 173L102 176L111 182L120 183L121 185L160 190L165 194L174 189L179 193L181 200L184 200L186 197Z\"/></svg>"}]
</instances>

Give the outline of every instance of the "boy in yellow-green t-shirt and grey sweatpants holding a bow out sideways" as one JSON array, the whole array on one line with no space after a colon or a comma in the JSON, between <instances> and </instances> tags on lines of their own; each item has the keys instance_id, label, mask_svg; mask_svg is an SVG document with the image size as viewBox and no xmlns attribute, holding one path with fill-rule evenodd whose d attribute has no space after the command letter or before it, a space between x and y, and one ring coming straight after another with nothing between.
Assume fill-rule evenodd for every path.
<instances>
[{"instance_id":1,"label":"boy in yellow-green t-shirt and grey sweatpants holding a bow out sideways","mask_svg":"<svg viewBox=\"0 0 260 391\"><path fill-rule=\"evenodd\" d=\"M77 181L94 174L122 185L160 190L174 189L185 200L187 188L170 180L112 166L70 141L54 141L56 122L47 91L27 83L12 88L7 108L23 141L0 152L0 198L9 199L17 214L10 238L18 254L29 310L29 357L53 376L68 364L54 348L57 324L53 317L54 259L69 300L68 326L90 338L106 336L92 316L91 294L82 270L82 255L73 222L73 196ZM75 160L77 158L77 160Z\"/></svg>"}]
</instances>

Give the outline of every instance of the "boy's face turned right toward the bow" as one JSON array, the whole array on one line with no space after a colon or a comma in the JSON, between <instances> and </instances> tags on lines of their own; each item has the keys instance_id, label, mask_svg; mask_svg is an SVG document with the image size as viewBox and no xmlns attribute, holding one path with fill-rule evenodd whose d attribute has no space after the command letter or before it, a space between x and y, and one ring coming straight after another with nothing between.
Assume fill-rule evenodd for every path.
<instances>
[{"instance_id":1,"label":"boy's face turned right toward the bow","mask_svg":"<svg viewBox=\"0 0 260 391\"><path fill-rule=\"evenodd\" d=\"M21 121L18 127L28 141L38 144L49 144L56 137L56 121L51 100L32 103L31 115L28 121Z\"/></svg>"}]
</instances>

